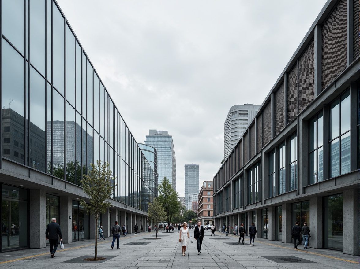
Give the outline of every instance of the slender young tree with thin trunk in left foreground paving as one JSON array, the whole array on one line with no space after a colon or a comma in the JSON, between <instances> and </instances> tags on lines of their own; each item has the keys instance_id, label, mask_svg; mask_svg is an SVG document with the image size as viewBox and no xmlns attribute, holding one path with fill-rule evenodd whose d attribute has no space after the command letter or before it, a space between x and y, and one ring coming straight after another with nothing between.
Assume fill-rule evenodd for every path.
<instances>
[{"instance_id":1,"label":"slender young tree with thin trunk in left foreground paving","mask_svg":"<svg viewBox=\"0 0 360 269\"><path fill-rule=\"evenodd\" d=\"M84 174L82 178L82 187L86 195L90 197L90 204L80 199L80 204L84 206L84 209L95 217L95 260L98 254L98 219L100 214L106 213L111 206L109 198L114 190L115 179L112 171L108 169L107 162L102 165L101 161L97 161L96 164L90 164L87 175Z\"/></svg>"}]
</instances>

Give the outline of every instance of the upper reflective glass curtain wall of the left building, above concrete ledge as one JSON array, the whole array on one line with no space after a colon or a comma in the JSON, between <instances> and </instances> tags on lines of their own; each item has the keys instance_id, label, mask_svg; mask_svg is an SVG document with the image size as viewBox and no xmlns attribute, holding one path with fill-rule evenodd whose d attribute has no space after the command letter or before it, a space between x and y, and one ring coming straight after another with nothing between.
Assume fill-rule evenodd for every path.
<instances>
[{"instance_id":1,"label":"upper reflective glass curtain wall of the left building, above concrete ledge","mask_svg":"<svg viewBox=\"0 0 360 269\"><path fill-rule=\"evenodd\" d=\"M146 211L156 174L57 3L1 3L1 156L77 185L108 161L113 198Z\"/></svg>"}]
</instances>

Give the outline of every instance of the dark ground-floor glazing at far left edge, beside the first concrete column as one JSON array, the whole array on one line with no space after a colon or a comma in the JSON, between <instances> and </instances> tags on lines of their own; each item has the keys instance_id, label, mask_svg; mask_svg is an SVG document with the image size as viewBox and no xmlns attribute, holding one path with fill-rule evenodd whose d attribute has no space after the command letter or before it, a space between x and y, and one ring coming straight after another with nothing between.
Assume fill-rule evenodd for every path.
<instances>
[{"instance_id":1,"label":"dark ground-floor glazing at far left edge, beside the first concrete column","mask_svg":"<svg viewBox=\"0 0 360 269\"><path fill-rule=\"evenodd\" d=\"M1 185L1 251L28 247L28 191Z\"/></svg>"}]
</instances>

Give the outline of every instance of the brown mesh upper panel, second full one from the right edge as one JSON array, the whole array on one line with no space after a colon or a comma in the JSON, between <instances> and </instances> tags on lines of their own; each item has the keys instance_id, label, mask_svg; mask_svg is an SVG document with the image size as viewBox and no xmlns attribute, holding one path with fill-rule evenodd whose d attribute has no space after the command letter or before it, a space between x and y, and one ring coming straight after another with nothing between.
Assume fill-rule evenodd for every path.
<instances>
[{"instance_id":1,"label":"brown mesh upper panel, second full one from the right edge","mask_svg":"<svg viewBox=\"0 0 360 269\"><path fill-rule=\"evenodd\" d=\"M314 40L298 60L299 112L314 100Z\"/></svg>"}]
</instances>

